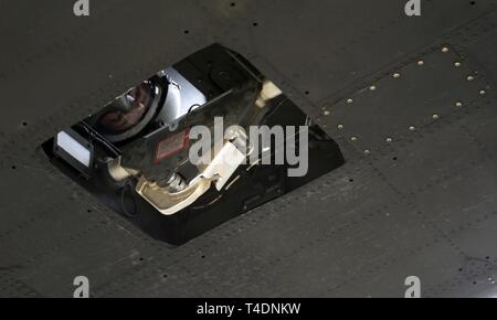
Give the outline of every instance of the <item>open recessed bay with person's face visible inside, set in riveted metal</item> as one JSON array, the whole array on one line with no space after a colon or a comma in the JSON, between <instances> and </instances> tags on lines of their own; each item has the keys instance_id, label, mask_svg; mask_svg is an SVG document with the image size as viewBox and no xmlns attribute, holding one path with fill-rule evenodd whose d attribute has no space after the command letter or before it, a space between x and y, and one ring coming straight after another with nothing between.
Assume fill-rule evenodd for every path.
<instances>
[{"instance_id":1,"label":"open recessed bay with person's face visible inside, set in riveted metal","mask_svg":"<svg viewBox=\"0 0 497 320\"><path fill-rule=\"evenodd\" d=\"M226 129L221 138L219 118ZM212 134L200 154L211 151L207 163L191 159L199 143L192 131L199 127ZM269 134L282 128L283 140L275 134L255 145L246 139L252 127L267 127ZM158 71L94 115L67 124L42 147L56 168L102 203L175 245L345 162L332 138L271 79L219 44ZM302 150L305 174L288 174ZM248 161L253 152L260 154L256 163Z\"/></svg>"}]
</instances>

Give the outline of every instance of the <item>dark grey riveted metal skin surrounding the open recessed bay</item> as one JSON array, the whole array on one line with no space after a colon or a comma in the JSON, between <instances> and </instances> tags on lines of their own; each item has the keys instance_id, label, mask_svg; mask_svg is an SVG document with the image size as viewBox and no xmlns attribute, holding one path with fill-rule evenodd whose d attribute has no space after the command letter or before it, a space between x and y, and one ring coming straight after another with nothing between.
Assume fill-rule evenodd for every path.
<instances>
[{"instance_id":1,"label":"dark grey riveted metal skin surrounding the open recessed bay","mask_svg":"<svg viewBox=\"0 0 497 320\"><path fill-rule=\"evenodd\" d=\"M398 0L308 2L92 1L91 18L77 19L71 1L2 2L11 14L0 22L9 44L0 53L1 295L72 296L76 275L87 275L98 297L401 297L410 275L421 277L424 296L489 295L495 1L426 0L421 18L406 18ZM339 119L324 106L340 108L355 94L373 94L374 103L340 114L355 128L338 137L346 166L171 248L96 203L35 150L213 42L245 55L334 136ZM457 71L453 54L463 62ZM401 78L391 78L399 70ZM475 82L466 82L473 72ZM374 83L377 92L358 93ZM474 96L482 86L487 94ZM394 97L410 107L398 108ZM464 106L453 109L452 97ZM434 113L436 121L426 117Z\"/></svg>"}]
</instances>

